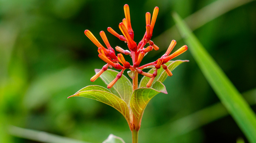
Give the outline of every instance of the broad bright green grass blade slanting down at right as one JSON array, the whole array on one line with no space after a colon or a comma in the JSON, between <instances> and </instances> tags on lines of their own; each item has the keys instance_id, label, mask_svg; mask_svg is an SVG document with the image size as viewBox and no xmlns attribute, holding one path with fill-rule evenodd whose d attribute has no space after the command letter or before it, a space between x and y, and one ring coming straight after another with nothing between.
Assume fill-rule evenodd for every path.
<instances>
[{"instance_id":1,"label":"broad bright green grass blade slanting down at right","mask_svg":"<svg viewBox=\"0 0 256 143\"><path fill-rule=\"evenodd\" d=\"M173 17L181 36L186 41L189 51L205 78L247 139L256 143L256 116L254 112L180 16L174 13Z\"/></svg>"}]
</instances>

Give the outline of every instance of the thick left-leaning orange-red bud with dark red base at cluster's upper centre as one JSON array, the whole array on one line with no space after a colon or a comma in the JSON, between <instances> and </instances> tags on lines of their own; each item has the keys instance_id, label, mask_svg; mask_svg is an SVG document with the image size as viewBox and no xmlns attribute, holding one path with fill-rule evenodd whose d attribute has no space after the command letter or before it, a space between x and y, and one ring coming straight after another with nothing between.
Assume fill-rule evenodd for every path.
<instances>
[{"instance_id":1,"label":"thick left-leaning orange-red bud with dark red base at cluster's upper centre","mask_svg":"<svg viewBox=\"0 0 256 143\"><path fill-rule=\"evenodd\" d=\"M132 38L130 37L127 29L125 28L125 26L124 26L124 24L122 22L119 24L119 29L123 33L124 37L127 39L128 48L131 49L134 52L137 51L137 44L136 44L136 42L134 40L132 40Z\"/></svg>"}]
</instances>

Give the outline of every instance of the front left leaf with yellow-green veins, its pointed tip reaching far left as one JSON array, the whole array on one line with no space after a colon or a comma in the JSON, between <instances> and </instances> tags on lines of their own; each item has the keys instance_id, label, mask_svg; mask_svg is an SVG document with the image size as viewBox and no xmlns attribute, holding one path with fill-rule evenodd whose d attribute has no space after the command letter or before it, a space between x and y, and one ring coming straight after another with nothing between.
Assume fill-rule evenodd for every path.
<instances>
[{"instance_id":1,"label":"front left leaf with yellow-green veins, its pointed tip reaching far left","mask_svg":"<svg viewBox=\"0 0 256 143\"><path fill-rule=\"evenodd\" d=\"M125 117L125 119L129 121L129 110L127 104L115 94L110 93L109 90L104 87L87 86L80 89L78 92L76 92L74 95L71 95L70 97L75 96L86 97L108 104L113 108L117 109L117 111L119 111Z\"/></svg>"}]
</instances>

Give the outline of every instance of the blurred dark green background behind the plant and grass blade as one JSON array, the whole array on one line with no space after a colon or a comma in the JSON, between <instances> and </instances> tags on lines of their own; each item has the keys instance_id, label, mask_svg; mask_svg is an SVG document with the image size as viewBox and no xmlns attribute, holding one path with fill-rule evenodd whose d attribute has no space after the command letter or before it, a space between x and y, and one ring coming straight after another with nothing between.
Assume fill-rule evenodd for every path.
<instances>
[{"instance_id":1,"label":"blurred dark green background behind the plant and grass blade","mask_svg":"<svg viewBox=\"0 0 256 143\"><path fill-rule=\"evenodd\" d=\"M121 33L124 4L130 7L136 42L145 32L145 13L160 9L152 37L160 50L150 52L145 63L163 55L173 39L174 50L186 44L174 26L173 11L182 18L197 12L187 24L256 111L254 0L0 0L0 142L39 142L36 131L59 135L53 140L63 136L101 143L114 134L131 142L127 122L114 108L86 98L67 99L88 85L106 87L100 79L90 82L104 62L84 30L102 44L99 32L104 30L112 47L125 49L107 32L112 27ZM247 142L191 54L175 59L190 62L164 82L168 95L159 94L148 104L139 142Z\"/></svg>"}]
</instances>

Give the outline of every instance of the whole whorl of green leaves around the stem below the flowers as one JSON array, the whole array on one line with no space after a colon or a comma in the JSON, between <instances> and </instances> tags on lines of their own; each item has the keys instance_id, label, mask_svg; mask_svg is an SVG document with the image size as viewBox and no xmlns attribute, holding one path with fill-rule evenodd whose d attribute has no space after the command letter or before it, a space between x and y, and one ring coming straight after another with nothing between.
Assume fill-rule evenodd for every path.
<instances>
[{"instance_id":1,"label":"whole whorl of green leaves around the stem below the flowers","mask_svg":"<svg viewBox=\"0 0 256 143\"><path fill-rule=\"evenodd\" d=\"M166 65L170 71L173 71L178 65L187 61L188 60L169 61ZM154 70L155 68L151 68L148 73L152 73ZM97 73L99 69L95 71ZM108 85L115 78L117 73L118 72L114 70L107 70L100 75L100 78ZM110 90L97 85L87 86L70 97L81 96L108 104L125 117L131 130L139 130L143 111L148 102L160 92L167 94L166 88L162 84L166 77L167 74L165 70L159 69L159 74L156 76L151 88L144 88L150 80L149 77L144 76L140 81L140 88L133 91L132 83L123 75ZM137 124L132 124L134 120L136 120Z\"/></svg>"}]
</instances>

